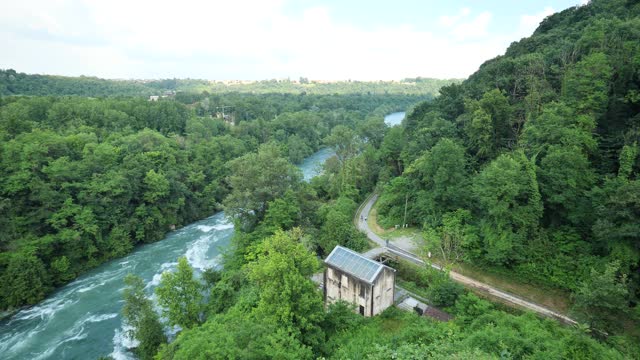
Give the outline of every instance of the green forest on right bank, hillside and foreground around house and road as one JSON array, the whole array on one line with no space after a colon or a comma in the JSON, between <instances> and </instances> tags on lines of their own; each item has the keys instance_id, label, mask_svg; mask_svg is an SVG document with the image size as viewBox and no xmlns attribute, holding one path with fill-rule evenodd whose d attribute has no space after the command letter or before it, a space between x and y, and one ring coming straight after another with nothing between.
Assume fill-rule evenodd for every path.
<instances>
[{"instance_id":1,"label":"green forest on right bank, hillside and foreground around house and road","mask_svg":"<svg viewBox=\"0 0 640 360\"><path fill-rule=\"evenodd\" d=\"M288 177L292 180L278 188L284 195L266 199L266 206L242 194L251 188L243 181L246 169L263 163L259 159L269 150L235 160L224 200L240 230L234 250L224 269L205 275L204 283L194 280L187 264L178 271L209 296L188 302L197 309L192 321L183 322L168 344L162 336L136 333L152 348L138 354L156 359L637 357L639 14L636 2L592 1L548 17L504 56L413 107L403 126L386 128L382 138L334 128L327 143L337 154L325 173L311 181L311 189ZM355 206L374 189L381 192L384 225L402 223L407 207L407 222L420 227L427 249L446 260L571 291L570 315L579 325L490 303L442 273L402 264L396 264L400 276L427 287L453 321L394 308L362 318L340 303L324 311L310 280L321 268L315 254L326 255L336 242L366 248L351 236L351 225L344 230L336 225L349 222ZM313 199L323 205L309 206ZM188 311L179 300L185 298L183 289L167 291L174 276L166 275L156 293L167 301L163 314L170 319L169 311L183 305L171 320L178 321ZM149 318L158 321L153 314Z\"/></svg>"}]
</instances>

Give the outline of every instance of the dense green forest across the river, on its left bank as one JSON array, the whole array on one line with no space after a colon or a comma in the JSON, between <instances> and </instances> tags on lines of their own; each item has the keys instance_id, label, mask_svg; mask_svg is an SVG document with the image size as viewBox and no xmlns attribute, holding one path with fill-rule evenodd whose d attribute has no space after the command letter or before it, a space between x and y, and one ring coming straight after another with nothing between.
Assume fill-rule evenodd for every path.
<instances>
[{"instance_id":1,"label":"dense green forest across the river, on its left bank","mask_svg":"<svg viewBox=\"0 0 640 360\"><path fill-rule=\"evenodd\" d=\"M297 163L326 146L332 129L374 134L384 125L374 114L425 96L196 98L0 99L0 308L35 304L220 210L230 161L261 144ZM235 108L237 125L215 116L219 103Z\"/></svg>"}]
</instances>

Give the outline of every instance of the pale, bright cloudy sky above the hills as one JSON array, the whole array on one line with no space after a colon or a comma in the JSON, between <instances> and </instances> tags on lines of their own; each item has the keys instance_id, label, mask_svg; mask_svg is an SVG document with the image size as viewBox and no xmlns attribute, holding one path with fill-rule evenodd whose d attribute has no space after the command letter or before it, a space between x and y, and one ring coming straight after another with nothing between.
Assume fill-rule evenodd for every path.
<instances>
[{"instance_id":1,"label":"pale, bright cloudy sky above the hills","mask_svg":"<svg viewBox=\"0 0 640 360\"><path fill-rule=\"evenodd\" d=\"M0 0L0 69L118 79L466 78L586 0Z\"/></svg>"}]
</instances>

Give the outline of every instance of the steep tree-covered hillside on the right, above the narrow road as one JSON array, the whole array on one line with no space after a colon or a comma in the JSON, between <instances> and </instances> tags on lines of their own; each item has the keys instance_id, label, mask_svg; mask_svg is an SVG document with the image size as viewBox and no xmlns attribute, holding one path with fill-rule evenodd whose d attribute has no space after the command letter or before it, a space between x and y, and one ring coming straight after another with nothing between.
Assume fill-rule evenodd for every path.
<instances>
[{"instance_id":1,"label":"steep tree-covered hillside on the right, above the narrow road","mask_svg":"<svg viewBox=\"0 0 640 360\"><path fill-rule=\"evenodd\" d=\"M637 1L595 0L549 16L418 106L384 139L382 222L402 223L408 203L434 254L567 289L595 329L635 327L639 15Z\"/></svg>"}]
</instances>

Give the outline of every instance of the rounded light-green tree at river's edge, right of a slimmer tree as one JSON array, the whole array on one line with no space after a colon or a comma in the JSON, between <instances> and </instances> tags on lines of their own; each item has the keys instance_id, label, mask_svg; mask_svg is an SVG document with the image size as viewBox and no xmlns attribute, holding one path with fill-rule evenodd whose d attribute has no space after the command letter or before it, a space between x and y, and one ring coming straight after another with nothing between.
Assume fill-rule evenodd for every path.
<instances>
[{"instance_id":1,"label":"rounded light-green tree at river's edge, right of a slimmer tree","mask_svg":"<svg viewBox=\"0 0 640 360\"><path fill-rule=\"evenodd\" d=\"M194 278L193 269L184 256L178 259L175 272L162 273L155 292L162 314L169 320L169 324L188 329L200 323L203 310L202 290L202 284Z\"/></svg>"}]
</instances>

